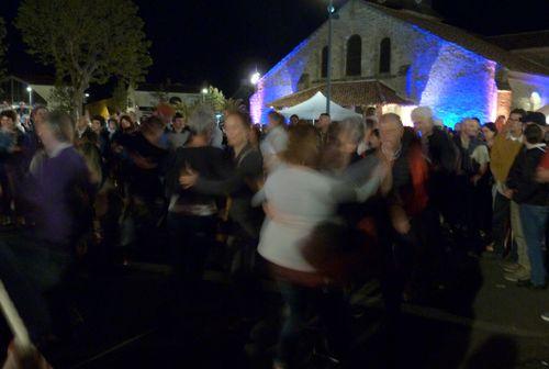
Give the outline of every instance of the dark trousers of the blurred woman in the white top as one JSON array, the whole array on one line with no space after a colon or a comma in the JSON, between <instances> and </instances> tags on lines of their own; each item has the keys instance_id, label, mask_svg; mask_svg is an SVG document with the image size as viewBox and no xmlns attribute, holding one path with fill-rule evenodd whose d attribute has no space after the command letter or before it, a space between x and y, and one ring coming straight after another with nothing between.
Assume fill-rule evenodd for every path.
<instances>
[{"instance_id":1,"label":"dark trousers of the blurred woman in the white top","mask_svg":"<svg viewBox=\"0 0 549 369\"><path fill-rule=\"evenodd\" d=\"M343 291L336 288L307 288L288 281L279 281L279 288L289 308L289 315L282 324L276 360L285 365L294 362L295 348L305 322L311 317L310 312L318 315L332 353L339 357L344 355L349 342L349 314Z\"/></svg>"}]
</instances>

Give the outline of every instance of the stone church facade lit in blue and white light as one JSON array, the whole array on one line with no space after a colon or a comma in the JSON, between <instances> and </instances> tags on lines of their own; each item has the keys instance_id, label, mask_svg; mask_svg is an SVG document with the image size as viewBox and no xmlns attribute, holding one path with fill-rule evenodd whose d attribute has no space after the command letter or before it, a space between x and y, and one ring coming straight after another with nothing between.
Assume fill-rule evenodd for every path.
<instances>
[{"instance_id":1,"label":"stone church facade lit in blue and white light","mask_svg":"<svg viewBox=\"0 0 549 369\"><path fill-rule=\"evenodd\" d=\"M528 110L549 103L549 67L534 65L439 19L363 0L348 1L338 15L334 80L380 80L408 101L432 107L449 126L468 116L494 121L498 111L504 112L498 97L505 97L507 105ZM349 49L350 40L360 55ZM357 40L361 47L356 47ZM269 102L325 82L326 42L327 24L323 24L260 79L250 99L254 122L266 121Z\"/></svg>"}]
</instances>

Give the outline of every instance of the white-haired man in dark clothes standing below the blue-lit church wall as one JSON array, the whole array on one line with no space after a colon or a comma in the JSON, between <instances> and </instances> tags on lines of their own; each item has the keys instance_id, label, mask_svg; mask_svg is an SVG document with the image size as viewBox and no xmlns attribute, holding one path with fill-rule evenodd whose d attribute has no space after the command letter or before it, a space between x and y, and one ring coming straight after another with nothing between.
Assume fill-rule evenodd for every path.
<instances>
[{"instance_id":1,"label":"white-haired man in dark clothes standing below the blue-lit church wall","mask_svg":"<svg viewBox=\"0 0 549 369\"><path fill-rule=\"evenodd\" d=\"M452 187L457 171L459 150L450 136L435 125L430 108L414 109L412 121L415 131L422 137L423 152L429 163L432 203L446 222L453 224L456 216L448 190Z\"/></svg>"}]
</instances>

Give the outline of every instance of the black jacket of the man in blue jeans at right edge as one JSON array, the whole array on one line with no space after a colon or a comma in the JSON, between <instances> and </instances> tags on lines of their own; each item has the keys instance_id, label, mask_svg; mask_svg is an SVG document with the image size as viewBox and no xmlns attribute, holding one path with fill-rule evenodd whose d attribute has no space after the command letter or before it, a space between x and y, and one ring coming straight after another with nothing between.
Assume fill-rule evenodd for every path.
<instances>
[{"instance_id":1,"label":"black jacket of the man in blue jeans at right edge","mask_svg":"<svg viewBox=\"0 0 549 369\"><path fill-rule=\"evenodd\" d=\"M507 178L507 186L514 190L513 200L529 205L549 206L549 185L536 181L536 170L546 153L546 147L522 150Z\"/></svg>"}]
</instances>

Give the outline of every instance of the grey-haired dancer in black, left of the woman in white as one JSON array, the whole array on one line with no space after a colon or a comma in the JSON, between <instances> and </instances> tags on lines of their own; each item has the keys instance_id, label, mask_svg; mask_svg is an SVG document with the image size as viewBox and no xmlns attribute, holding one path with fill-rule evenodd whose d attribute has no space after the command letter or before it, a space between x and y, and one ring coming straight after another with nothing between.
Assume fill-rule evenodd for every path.
<instances>
[{"instance_id":1,"label":"grey-haired dancer in black, left of the woman in white","mask_svg":"<svg viewBox=\"0 0 549 369\"><path fill-rule=\"evenodd\" d=\"M197 172L208 180L225 178L223 150L210 146L215 126L214 114L199 108L189 118L191 138L187 146L176 150L166 177L168 234L173 264L189 302L197 301L208 251L214 243L217 205L216 198L192 188L184 188L180 177Z\"/></svg>"}]
</instances>

